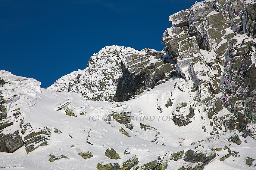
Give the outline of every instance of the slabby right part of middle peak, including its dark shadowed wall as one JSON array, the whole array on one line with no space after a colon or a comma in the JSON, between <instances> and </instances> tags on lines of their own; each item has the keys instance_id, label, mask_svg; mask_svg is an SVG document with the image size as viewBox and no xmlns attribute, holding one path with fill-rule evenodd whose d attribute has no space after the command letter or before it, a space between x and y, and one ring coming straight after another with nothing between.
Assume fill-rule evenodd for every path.
<instances>
[{"instance_id":1,"label":"slabby right part of middle peak, including its dark shadowed wall","mask_svg":"<svg viewBox=\"0 0 256 170\"><path fill-rule=\"evenodd\" d=\"M176 68L173 68L174 62L166 50L157 52L146 48L136 54L121 56L123 74L118 79L114 101L130 100L144 90L154 88L177 75ZM158 61L152 62L154 59Z\"/></svg>"}]
</instances>

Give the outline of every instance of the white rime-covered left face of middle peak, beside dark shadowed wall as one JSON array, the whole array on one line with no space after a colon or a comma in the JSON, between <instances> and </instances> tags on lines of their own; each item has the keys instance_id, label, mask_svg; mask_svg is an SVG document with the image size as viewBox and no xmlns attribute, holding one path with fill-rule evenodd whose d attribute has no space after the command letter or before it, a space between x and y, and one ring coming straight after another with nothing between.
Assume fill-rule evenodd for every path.
<instances>
[{"instance_id":1,"label":"white rime-covered left face of middle peak, beside dark shadowed wall","mask_svg":"<svg viewBox=\"0 0 256 170\"><path fill-rule=\"evenodd\" d=\"M85 99L112 102L118 78L122 75L120 56L137 52L129 47L106 46L92 55L84 70L61 77L48 89L78 92Z\"/></svg>"}]
</instances>

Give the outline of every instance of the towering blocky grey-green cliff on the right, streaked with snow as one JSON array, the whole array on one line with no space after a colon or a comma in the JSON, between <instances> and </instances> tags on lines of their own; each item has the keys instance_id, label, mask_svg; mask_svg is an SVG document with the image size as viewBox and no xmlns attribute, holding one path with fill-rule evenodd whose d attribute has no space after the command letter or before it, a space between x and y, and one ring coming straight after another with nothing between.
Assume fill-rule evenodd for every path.
<instances>
[{"instance_id":1,"label":"towering blocky grey-green cliff on the right, streaked with snow","mask_svg":"<svg viewBox=\"0 0 256 170\"><path fill-rule=\"evenodd\" d=\"M198 90L211 135L222 132L222 124L244 131L255 122L255 9L254 1L212 0L169 16L172 27L162 43L177 72ZM223 106L231 114L220 118Z\"/></svg>"}]
</instances>

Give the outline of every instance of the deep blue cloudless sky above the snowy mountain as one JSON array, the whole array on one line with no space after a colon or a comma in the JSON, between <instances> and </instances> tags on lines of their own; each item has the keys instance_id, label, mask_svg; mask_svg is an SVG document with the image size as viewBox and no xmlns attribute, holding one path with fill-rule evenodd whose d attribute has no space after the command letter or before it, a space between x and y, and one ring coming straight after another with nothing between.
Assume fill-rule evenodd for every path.
<instances>
[{"instance_id":1,"label":"deep blue cloudless sky above the snowy mountain","mask_svg":"<svg viewBox=\"0 0 256 170\"><path fill-rule=\"evenodd\" d=\"M0 0L0 70L46 88L108 45L158 51L168 16L195 0Z\"/></svg>"}]
</instances>

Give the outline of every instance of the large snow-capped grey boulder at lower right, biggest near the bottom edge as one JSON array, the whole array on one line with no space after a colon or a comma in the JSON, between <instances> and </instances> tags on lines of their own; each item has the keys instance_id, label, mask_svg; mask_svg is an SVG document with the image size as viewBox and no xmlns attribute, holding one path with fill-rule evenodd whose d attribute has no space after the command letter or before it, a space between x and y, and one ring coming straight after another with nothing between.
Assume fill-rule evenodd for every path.
<instances>
[{"instance_id":1,"label":"large snow-capped grey boulder at lower right, biggest near the bottom edge","mask_svg":"<svg viewBox=\"0 0 256 170\"><path fill-rule=\"evenodd\" d=\"M214 157L216 157L214 146L211 143L204 143L186 151L183 160L198 163L207 162Z\"/></svg>"}]
</instances>

